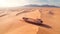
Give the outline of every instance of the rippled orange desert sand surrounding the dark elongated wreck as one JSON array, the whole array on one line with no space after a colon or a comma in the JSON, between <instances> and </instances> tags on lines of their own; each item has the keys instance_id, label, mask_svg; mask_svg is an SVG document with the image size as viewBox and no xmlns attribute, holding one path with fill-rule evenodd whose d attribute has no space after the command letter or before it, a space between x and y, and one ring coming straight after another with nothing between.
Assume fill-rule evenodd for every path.
<instances>
[{"instance_id":1,"label":"rippled orange desert sand surrounding the dark elongated wreck","mask_svg":"<svg viewBox=\"0 0 60 34\"><path fill-rule=\"evenodd\" d=\"M42 19L51 28L29 24L23 17ZM60 34L60 8L1 10L0 34Z\"/></svg>"}]
</instances>

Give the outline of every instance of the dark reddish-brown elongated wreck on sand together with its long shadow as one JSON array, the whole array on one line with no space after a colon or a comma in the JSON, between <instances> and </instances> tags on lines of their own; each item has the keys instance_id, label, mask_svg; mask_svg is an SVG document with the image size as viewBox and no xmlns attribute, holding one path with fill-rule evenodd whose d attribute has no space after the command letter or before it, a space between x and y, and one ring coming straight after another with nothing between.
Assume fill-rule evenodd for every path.
<instances>
[{"instance_id":1,"label":"dark reddish-brown elongated wreck on sand together with its long shadow","mask_svg":"<svg viewBox=\"0 0 60 34\"><path fill-rule=\"evenodd\" d=\"M32 19L32 18L23 17L23 20L25 22L30 23L30 24L34 24L34 25L37 25L37 26L42 26L42 27L45 27L45 28L51 28L51 26L43 24L43 21L41 19Z\"/></svg>"}]
</instances>

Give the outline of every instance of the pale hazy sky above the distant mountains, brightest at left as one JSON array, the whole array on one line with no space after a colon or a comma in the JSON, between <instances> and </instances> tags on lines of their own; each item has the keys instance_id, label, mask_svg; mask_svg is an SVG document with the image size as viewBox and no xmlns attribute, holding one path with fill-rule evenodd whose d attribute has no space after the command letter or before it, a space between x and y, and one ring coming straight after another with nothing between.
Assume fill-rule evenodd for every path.
<instances>
[{"instance_id":1,"label":"pale hazy sky above the distant mountains, brightest at left","mask_svg":"<svg viewBox=\"0 0 60 34\"><path fill-rule=\"evenodd\" d=\"M49 4L60 6L60 0L0 0L0 7L16 7L26 4Z\"/></svg>"}]
</instances>

